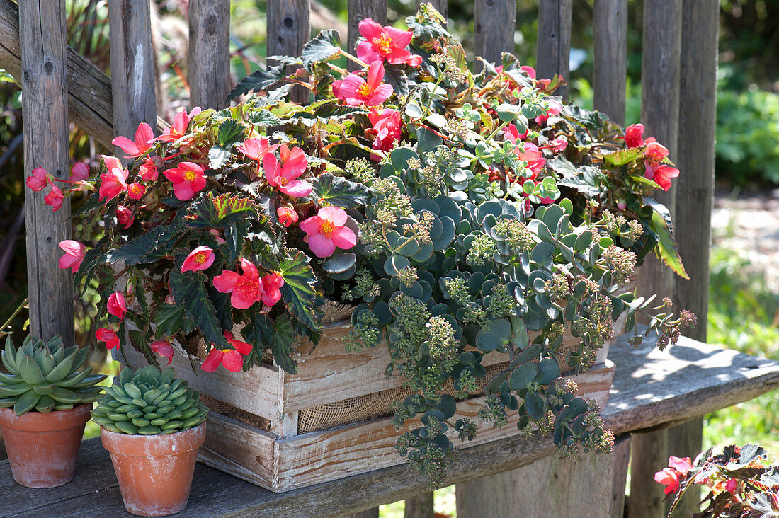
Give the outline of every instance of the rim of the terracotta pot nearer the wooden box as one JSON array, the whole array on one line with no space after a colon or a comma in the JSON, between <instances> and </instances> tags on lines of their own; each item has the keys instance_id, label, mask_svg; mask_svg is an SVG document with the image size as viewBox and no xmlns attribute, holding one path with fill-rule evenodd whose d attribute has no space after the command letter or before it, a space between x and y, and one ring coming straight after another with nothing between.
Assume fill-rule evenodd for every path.
<instances>
[{"instance_id":1,"label":"rim of the terracotta pot nearer the wooden box","mask_svg":"<svg viewBox=\"0 0 779 518\"><path fill-rule=\"evenodd\" d=\"M125 456L167 456L198 449L206 442L206 421L184 432L167 435L132 435L100 427L105 449Z\"/></svg>"}]
</instances>

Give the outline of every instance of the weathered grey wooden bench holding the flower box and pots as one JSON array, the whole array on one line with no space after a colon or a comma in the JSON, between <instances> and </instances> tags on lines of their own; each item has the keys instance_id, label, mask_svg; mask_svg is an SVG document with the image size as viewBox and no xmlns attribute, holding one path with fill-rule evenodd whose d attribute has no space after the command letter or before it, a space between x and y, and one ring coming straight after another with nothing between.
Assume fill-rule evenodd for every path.
<instances>
[{"instance_id":1,"label":"weathered grey wooden bench holding the flower box and pots","mask_svg":"<svg viewBox=\"0 0 779 518\"><path fill-rule=\"evenodd\" d=\"M657 351L625 337L612 348L617 365L604 417L616 435L661 429L729 407L779 386L779 362L682 338ZM449 481L472 481L526 466L554 454L547 438L517 436L462 451ZM646 481L647 485L654 484ZM189 506L177 516L344 516L426 491L405 465L389 467L286 493L272 493L198 464ZM16 485L0 462L0 516L131 516L125 513L111 460L100 439L83 443L76 477L68 485L30 489Z\"/></svg>"}]
</instances>

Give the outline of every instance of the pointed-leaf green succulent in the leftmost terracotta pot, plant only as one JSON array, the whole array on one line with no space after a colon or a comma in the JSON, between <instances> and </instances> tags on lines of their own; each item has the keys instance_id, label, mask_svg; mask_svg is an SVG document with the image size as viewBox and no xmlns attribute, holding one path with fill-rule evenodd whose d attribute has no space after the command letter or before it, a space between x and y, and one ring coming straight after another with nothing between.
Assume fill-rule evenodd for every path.
<instances>
[{"instance_id":1,"label":"pointed-leaf green succulent in the leftmost terracotta pot, plant only","mask_svg":"<svg viewBox=\"0 0 779 518\"><path fill-rule=\"evenodd\" d=\"M18 349L8 337L0 355L9 372L0 372L0 408L13 407L22 415L69 410L97 400L103 389L97 383L105 376L92 374L93 367L79 370L87 354L89 349L65 348L59 335L47 343L28 336Z\"/></svg>"}]
</instances>

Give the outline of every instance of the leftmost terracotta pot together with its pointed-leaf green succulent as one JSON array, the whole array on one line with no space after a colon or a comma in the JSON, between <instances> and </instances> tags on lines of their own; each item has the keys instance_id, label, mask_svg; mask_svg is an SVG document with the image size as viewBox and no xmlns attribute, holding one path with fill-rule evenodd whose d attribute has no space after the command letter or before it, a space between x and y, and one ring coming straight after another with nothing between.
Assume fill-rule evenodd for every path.
<instances>
[{"instance_id":1,"label":"leftmost terracotta pot together with its pointed-leaf green succulent","mask_svg":"<svg viewBox=\"0 0 779 518\"><path fill-rule=\"evenodd\" d=\"M0 430L14 480L53 488L72 480L84 425L104 375L83 368L89 349L65 348L56 336L28 336L17 349L8 337L0 372Z\"/></svg>"}]
</instances>

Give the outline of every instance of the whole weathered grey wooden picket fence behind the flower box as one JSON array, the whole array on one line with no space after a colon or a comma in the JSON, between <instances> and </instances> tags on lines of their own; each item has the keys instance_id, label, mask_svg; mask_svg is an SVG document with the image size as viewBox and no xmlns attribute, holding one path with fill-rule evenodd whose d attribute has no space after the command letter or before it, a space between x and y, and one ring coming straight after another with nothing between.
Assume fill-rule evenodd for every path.
<instances>
[{"instance_id":1,"label":"whole weathered grey wooden picket fence behind the flower box","mask_svg":"<svg viewBox=\"0 0 779 518\"><path fill-rule=\"evenodd\" d=\"M432 4L446 15L446 0ZM165 126L156 113L149 3L108 0L108 5L111 79L65 44L65 0L20 0L18 8L12 0L0 0L0 67L23 85L25 174L33 166L45 167L60 178L68 174L69 122L106 146L116 135L132 135L140 122ZM642 120L647 135L668 146L682 171L675 188L661 201L675 210L675 231L691 279L675 280L659 265L650 264L643 268L648 274L641 280L641 289L674 296L696 312L702 323L691 336L705 341L718 2L644 0L643 5L647 15L643 16ZM594 105L617 122L625 118L627 8L627 0L594 3ZM267 0L270 55L299 54L309 37L309 12L309 0ZM555 73L569 76L572 12L572 0L539 0L539 78L549 79ZM348 0L348 14L346 41L353 48L360 19L370 16L386 23L386 0ZM189 2L192 106L225 105L231 87L229 18L229 0ZM515 21L513 0L475 0L474 52L495 62L502 51L512 51ZM567 90L561 93L567 97ZM70 276L53 260L59 254L58 242L69 235L69 206L52 213L42 204L42 192L26 189L30 332L44 338L61 333L72 341ZM633 435L629 516L664 516L662 489L654 485L652 475L665 466L669 452L696 453L701 426L699 419L671 432ZM624 461L619 455L614 458L612 463ZM534 471L533 466L522 469ZM616 471L624 480L624 473ZM506 484L516 476L509 472L493 478L502 477ZM582 470L577 476L588 474ZM458 487L458 495L464 497L463 516L472 516L464 503L469 492L483 495L486 491L489 498L502 498L492 489L499 482ZM355 516L377 513L374 509ZM430 495L407 501L407 516L432 516Z\"/></svg>"}]
</instances>

